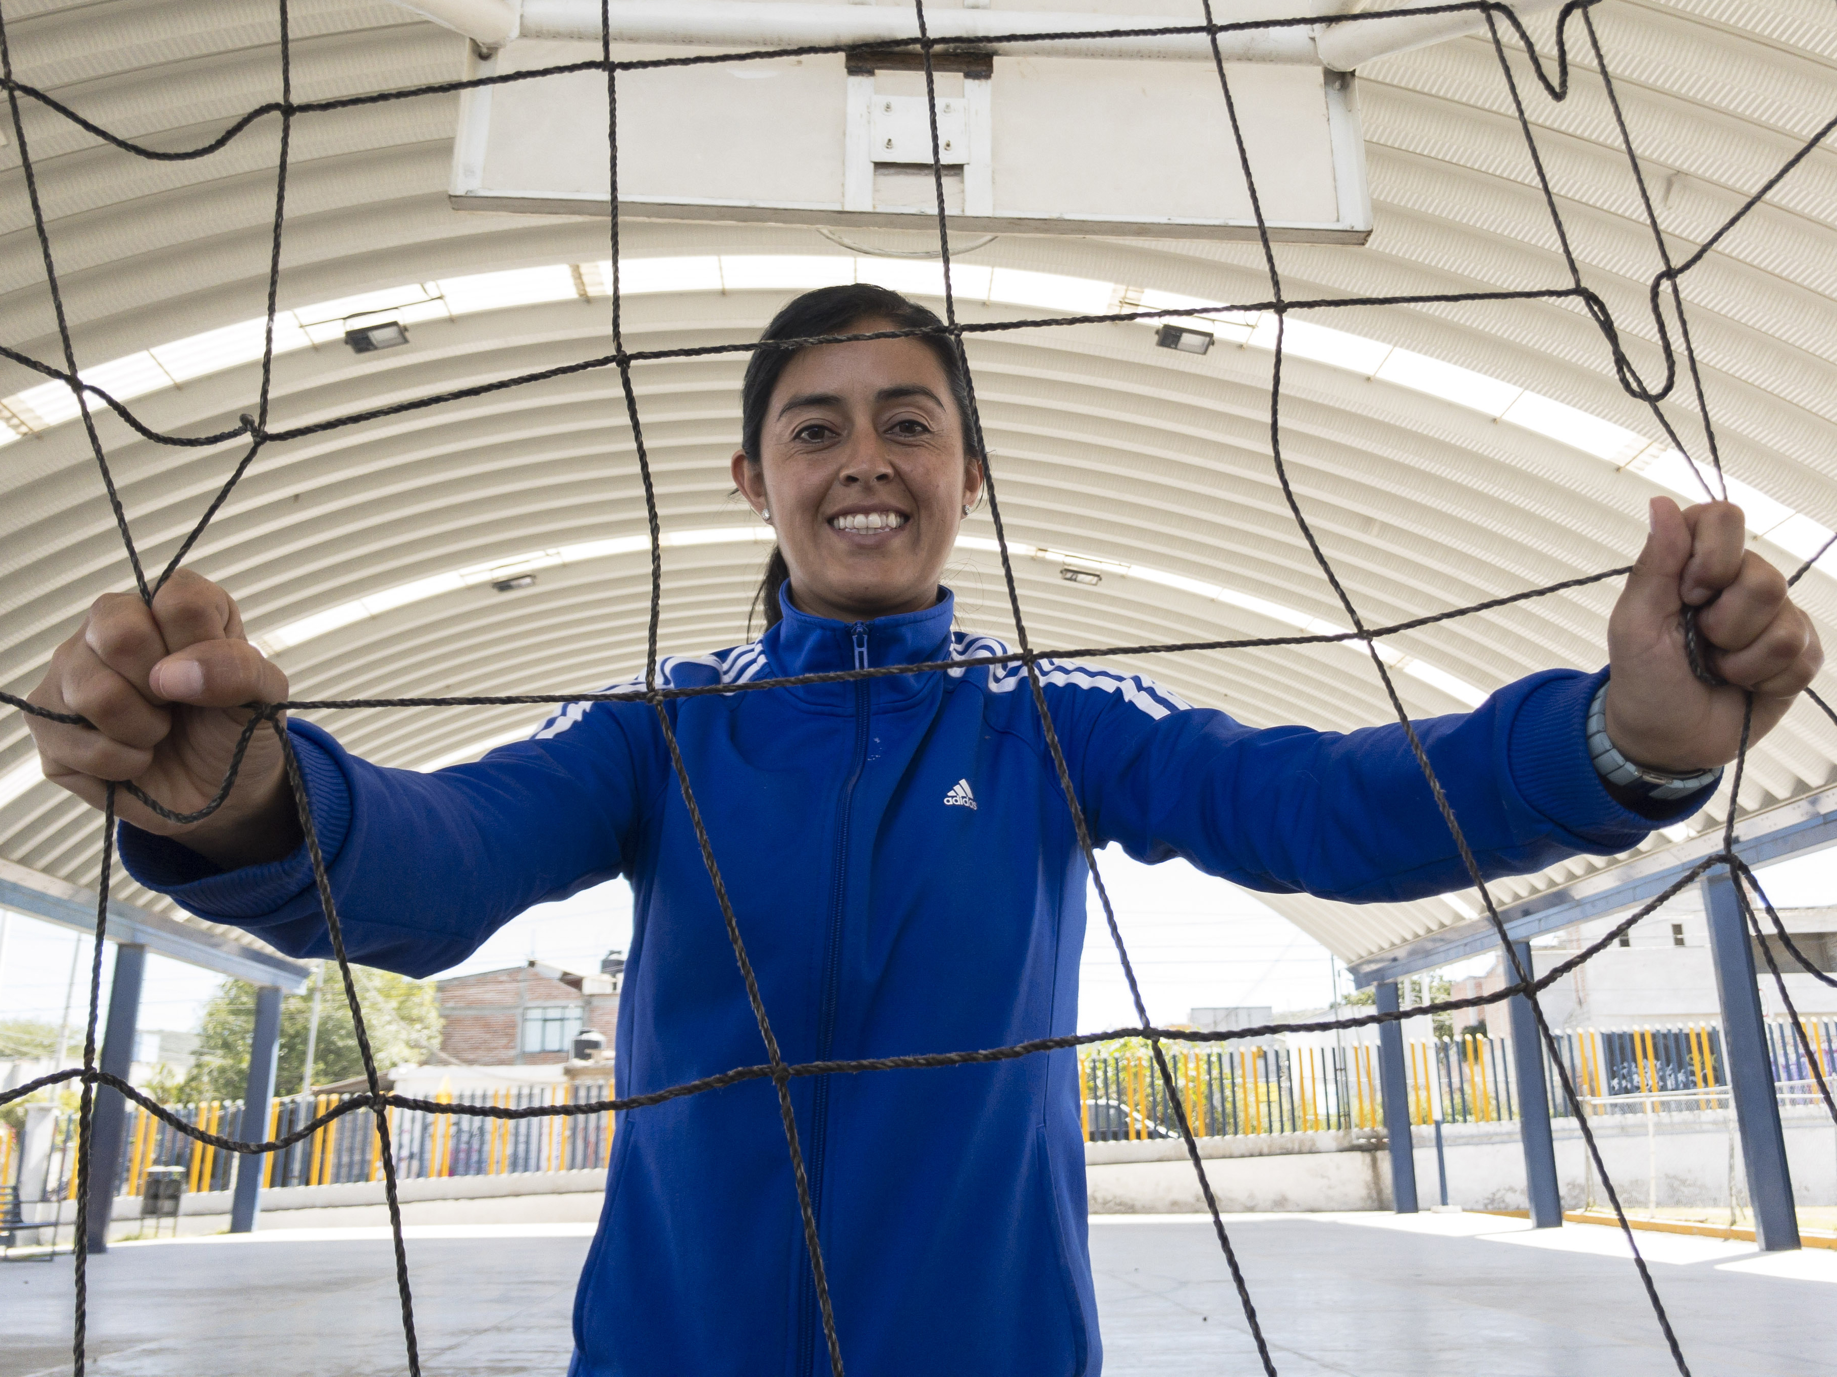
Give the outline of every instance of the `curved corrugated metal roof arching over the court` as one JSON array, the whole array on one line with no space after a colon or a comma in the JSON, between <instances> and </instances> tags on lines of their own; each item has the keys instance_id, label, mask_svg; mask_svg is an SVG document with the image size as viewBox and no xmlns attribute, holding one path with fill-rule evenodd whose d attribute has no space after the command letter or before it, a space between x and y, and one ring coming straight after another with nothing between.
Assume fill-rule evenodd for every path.
<instances>
[{"instance_id":1,"label":"curved corrugated metal roof arching over the court","mask_svg":"<svg viewBox=\"0 0 1837 1377\"><path fill-rule=\"evenodd\" d=\"M296 0L292 13L296 99L461 73L463 39L391 6ZM1830 118L1837 24L1822 0L1604 0L1593 13L1668 242L1685 257ZM1534 31L1547 40L1549 22ZM141 0L51 2L11 18L7 33L22 81L154 147L200 143L279 94L272 6L255 0L176 11ZM1372 62L1359 72L1359 103L1376 230L1363 248L1279 246L1291 297L1567 283L1490 42L1462 39ZM1527 90L1527 106L1583 277L1613 308L1635 362L1657 375L1644 303L1659 259L1600 83L1583 70L1569 101L1552 105ZM274 119L209 158L143 162L29 101L24 118L81 364L149 349L158 358L160 345L261 314ZM580 294L428 319L411 327L408 349L294 349L276 360L276 426L608 351L604 297L590 281L606 257L604 220L452 211L454 125L450 95L296 121L283 310L557 264L580 266ZM0 202L0 340L55 360L17 152L11 138L0 149L9 189ZM876 263L819 231L772 226L626 222L623 242L634 261L805 261L783 268L781 285L772 285L773 268L737 274L735 285L632 296L625 319L636 349L753 338L792 294L795 274L817 270L810 259L863 274L874 268L843 261ZM911 250L924 237L887 231L854 242ZM1762 549L1780 564L1793 562L1787 551L1804 545L1808 529L1837 525L1833 250L1837 154L1820 147L1683 281L1723 463L1773 501L1751 509L1765 512L1756 514L1756 529L1769 532ZM1122 301L1144 292L1203 301L1266 294L1253 244L1003 235L964 253L961 266L1108 285ZM964 303L963 318L1049 314L1016 308L994 286L988 294L986 303ZM1662 444L1646 448L1661 431L1620 391L1600 334L1572 301L1348 307L1310 319L1354 343L1319 336L1313 358L1295 353L1284 364L1284 452L1323 545L1372 624L1622 564L1640 543L1646 499L1670 490L1666 474L1675 487ZM1205 356L1155 349L1152 330L1117 323L972 340L1009 532L1053 553L1016 569L1036 646L1290 633L1295 622L1258 610L1264 604L1343 622L1271 472L1271 356L1249 338L1251 323L1207 329L1220 332L1220 347ZM1247 341L1233 347L1240 336ZM1389 351L1484 375L1506 389L1501 397L1525 393L1543 409L1495 419L1499 409L1459 386L1437 395L1422 378L1411 386L1383 367L1361 371L1361 360ZM742 358L636 369L665 531L751 521L726 477ZM0 367L0 397L40 382ZM208 433L250 408L257 371L231 364L180 376L178 386L147 386L132 408L149 424ZM1685 391L1664 408L1681 435L1699 433ZM1591 417L1607 426L1591 431ZM156 565L241 448L154 446L108 415L99 428ZM1620 455L1615 437L1628 433L1637 444ZM85 606L129 586L127 567L81 426L42 424L7 444L0 492L0 685L26 692ZM617 380L595 371L270 446L193 564L230 586L252 633L265 635L417 580L643 531ZM952 573L964 622L1009 633L999 571L974 549L990 534L986 516L968 534ZM1058 553L1106 562L1091 567L1117 577L1095 588L1065 582ZM761 562L762 545L749 538L669 549L665 648L744 639ZM1148 573L1121 577L1117 565ZM461 580L274 654L296 696L584 690L641 663L647 567L643 553L614 549L549 564L535 588L514 595ZM1593 668L1604 657L1613 593L1602 584L1539 599L1400 635L1391 646L1481 690L1550 665ZM1817 569L1798 597L1837 641L1837 584ZM1128 665L1251 723L1347 729L1389 716L1369 661L1339 646ZM1459 694L1433 679L1405 674L1398 685L1413 712L1460 707ZM331 725L382 764L426 766L481 749L535 716L364 711L336 714ZM31 784L29 760L18 716L0 718L0 799L15 795L0 804L0 856L94 883L94 813ZM1743 806L1802 797L1830 784L1833 767L1837 731L1804 705L1754 753ZM18 788L7 789L7 778ZM1708 817L1723 810L1718 800ZM1670 839L1650 843L1662 845ZM1501 889L1523 896L1593 865L1576 861ZM1275 905L1348 960L1462 920L1446 900Z\"/></svg>"}]
</instances>

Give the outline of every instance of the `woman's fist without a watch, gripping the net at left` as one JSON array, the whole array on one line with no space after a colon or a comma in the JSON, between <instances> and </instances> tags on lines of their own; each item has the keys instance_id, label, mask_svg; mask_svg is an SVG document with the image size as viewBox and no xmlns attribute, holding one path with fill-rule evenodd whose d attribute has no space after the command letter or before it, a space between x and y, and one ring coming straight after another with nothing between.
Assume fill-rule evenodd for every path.
<instances>
[{"instance_id":1,"label":"woman's fist without a watch, gripping the net at left","mask_svg":"<svg viewBox=\"0 0 1837 1377\"><path fill-rule=\"evenodd\" d=\"M187 569L154 595L96 599L83 626L51 654L28 701L77 712L94 727L26 718L44 777L92 808L110 780L129 780L175 813L195 813L222 788L248 723L244 703L287 698L287 676L242 635L235 600ZM299 845L287 767L274 729L255 729L235 788L209 817L171 823L116 793L125 823L176 837L224 868L277 861Z\"/></svg>"}]
</instances>

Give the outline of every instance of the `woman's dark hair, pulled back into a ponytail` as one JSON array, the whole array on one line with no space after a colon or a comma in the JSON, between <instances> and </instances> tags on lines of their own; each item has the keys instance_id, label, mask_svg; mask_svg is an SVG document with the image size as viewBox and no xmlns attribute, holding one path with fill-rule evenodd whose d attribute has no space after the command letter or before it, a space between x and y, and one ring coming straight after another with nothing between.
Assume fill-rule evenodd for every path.
<instances>
[{"instance_id":1,"label":"woman's dark hair, pulled back into a ponytail","mask_svg":"<svg viewBox=\"0 0 1837 1377\"><path fill-rule=\"evenodd\" d=\"M957 404L957 417L963 422L963 453L966 459L977 455L975 422L970 415L970 380L957 354L957 343L944 334L944 321L917 301L907 301L898 292L873 283L851 283L847 286L819 286L790 301L759 338L770 340L810 340L823 334L854 334L863 321L887 321L896 330L937 330L935 334L915 336L937 356L937 365L944 369L950 384L950 400ZM808 349L808 345L801 345ZM759 463L759 437L766 428L766 408L772 404L772 389L779 386L784 367L797 354L792 349L755 349L746 365L746 380L740 384L740 448L748 463ZM766 562L766 577L753 595L753 613L764 613L766 630L777 626L784 615L779 611L779 589L790 578L790 567L777 545ZM751 622L751 613L748 613Z\"/></svg>"}]
</instances>

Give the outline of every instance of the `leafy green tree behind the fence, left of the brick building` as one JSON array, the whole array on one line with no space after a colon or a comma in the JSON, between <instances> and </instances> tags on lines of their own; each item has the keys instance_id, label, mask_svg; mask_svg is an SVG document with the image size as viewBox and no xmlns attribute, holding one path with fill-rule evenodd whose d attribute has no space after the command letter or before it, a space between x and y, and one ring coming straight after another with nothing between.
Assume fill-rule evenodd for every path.
<instances>
[{"instance_id":1,"label":"leafy green tree behind the fence, left of the brick building","mask_svg":"<svg viewBox=\"0 0 1837 1377\"><path fill-rule=\"evenodd\" d=\"M356 1028L345 1004L338 968L320 973L320 1036L312 1056L312 1083L329 1085L364 1074ZM441 1045L439 995L432 980L410 980L369 966L353 966L351 982L364 1006L364 1028L377 1069L424 1061ZM307 1028L312 1021L310 990L281 1001L281 1059L276 1094L298 1094L307 1063ZM248 1083L248 1045L255 1034L255 986L224 980L204 1006L197 1059L180 1085L182 1100L241 1100Z\"/></svg>"}]
</instances>

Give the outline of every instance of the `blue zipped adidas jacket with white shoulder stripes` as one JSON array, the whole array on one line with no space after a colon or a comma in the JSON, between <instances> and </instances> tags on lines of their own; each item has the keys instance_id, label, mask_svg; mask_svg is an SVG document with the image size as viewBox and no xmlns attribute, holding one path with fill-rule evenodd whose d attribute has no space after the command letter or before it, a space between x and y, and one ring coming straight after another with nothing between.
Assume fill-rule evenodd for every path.
<instances>
[{"instance_id":1,"label":"blue zipped adidas jacket with white shoulder stripes","mask_svg":"<svg viewBox=\"0 0 1837 1377\"><path fill-rule=\"evenodd\" d=\"M856 626L786 606L757 643L663 674L746 683L990 652L952 632L948 597ZM1400 727L1253 731L1137 676L1042 668L1099 845L1348 901L1468 885ZM1488 874L1618 852L1653 826L1589 764L1598 681L1534 674L1418 723ZM711 694L669 712L786 1059L1076 1030L1086 867L1025 672ZM428 975L531 903L623 874L636 925L617 1092L764 1061L648 705L571 705L533 740L432 775L290 729L356 960ZM200 916L331 955L303 854L224 874L132 828L121 854ZM1073 1052L797 1080L792 1100L851 1371L1099 1371ZM770 1081L621 1116L575 1344L577 1377L828 1370Z\"/></svg>"}]
</instances>

